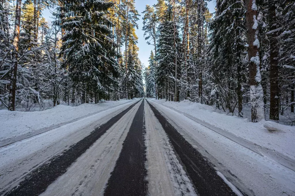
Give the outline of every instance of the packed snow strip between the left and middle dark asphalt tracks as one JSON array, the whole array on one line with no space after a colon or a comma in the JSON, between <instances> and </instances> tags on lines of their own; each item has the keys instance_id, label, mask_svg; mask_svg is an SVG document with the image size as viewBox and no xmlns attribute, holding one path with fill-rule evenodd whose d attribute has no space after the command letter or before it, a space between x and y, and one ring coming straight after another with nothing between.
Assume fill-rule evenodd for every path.
<instances>
[{"instance_id":1,"label":"packed snow strip between the left and middle dark asphalt tracks","mask_svg":"<svg viewBox=\"0 0 295 196\"><path fill-rule=\"evenodd\" d=\"M139 106L137 103L107 130L42 195L103 195Z\"/></svg>"}]
</instances>

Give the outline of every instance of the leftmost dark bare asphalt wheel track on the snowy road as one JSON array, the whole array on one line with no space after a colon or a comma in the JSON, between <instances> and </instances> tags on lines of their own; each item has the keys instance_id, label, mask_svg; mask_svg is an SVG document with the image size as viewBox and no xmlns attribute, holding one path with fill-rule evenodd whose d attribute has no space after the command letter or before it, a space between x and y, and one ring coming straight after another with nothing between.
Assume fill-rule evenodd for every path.
<instances>
[{"instance_id":1,"label":"leftmost dark bare asphalt wheel track on the snowy road","mask_svg":"<svg viewBox=\"0 0 295 196\"><path fill-rule=\"evenodd\" d=\"M63 175L67 168L71 166L87 149L93 145L106 131L112 127L120 118L131 110L138 102L129 106L118 115L111 118L100 127L96 128L90 135L86 136L71 148L65 150L63 154L53 157L43 165L37 167L24 177L24 180L12 190L4 190L0 195L40 195L59 176Z\"/></svg>"}]
</instances>

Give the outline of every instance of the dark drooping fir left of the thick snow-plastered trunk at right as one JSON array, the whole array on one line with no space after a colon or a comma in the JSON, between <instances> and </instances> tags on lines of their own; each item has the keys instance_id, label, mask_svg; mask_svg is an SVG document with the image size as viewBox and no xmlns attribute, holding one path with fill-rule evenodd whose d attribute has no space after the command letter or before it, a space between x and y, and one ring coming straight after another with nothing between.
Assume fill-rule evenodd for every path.
<instances>
[{"instance_id":1,"label":"dark drooping fir left of the thick snow-plastered trunk at right","mask_svg":"<svg viewBox=\"0 0 295 196\"><path fill-rule=\"evenodd\" d=\"M245 7L242 2L217 1L216 16L210 23L209 72L211 96L223 110L242 115L245 91ZM222 55L220 55L222 53ZM227 66L224 66L227 65Z\"/></svg>"}]
</instances>

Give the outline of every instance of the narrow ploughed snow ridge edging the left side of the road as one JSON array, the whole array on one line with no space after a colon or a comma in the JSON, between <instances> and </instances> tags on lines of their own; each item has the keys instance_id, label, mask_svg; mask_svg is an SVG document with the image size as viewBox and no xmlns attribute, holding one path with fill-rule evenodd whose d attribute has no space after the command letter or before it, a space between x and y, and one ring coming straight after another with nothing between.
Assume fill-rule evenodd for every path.
<instances>
[{"instance_id":1,"label":"narrow ploughed snow ridge edging the left side of the road","mask_svg":"<svg viewBox=\"0 0 295 196\"><path fill-rule=\"evenodd\" d=\"M45 132L47 132L47 131L50 131L50 130L53 130L53 129L59 128L59 127L61 127L61 126L63 126L63 125L67 125L67 124L69 124L69 123L76 122L76 121L81 120L81 119L83 119L83 118L87 118L87 117L89 117L89 116L92 116L92 115L95 115L95 114L98 114L98 113L104 112L104 111L106 111L106 110L109 110L109 109L112 109L112 108L116 108L116 107L119 107L119 106L124 105L124 104L126 104L126 105L127 105L127 104L130 104L130 103L132 103L132 102L133 102L133 101L130 101L130 102L128 102L128 103L122 103L122 104L119 104L119 105L114 105L114 106L109 107L109 108L107 108L107 109L99 110L99 111L96 111L96 112L93 112L93 113L90 113L90 114L87 114L87 115L81 116L81 117L79 117L79 118L75 118L75 119L73 119L73 120L69 120L69 121L66 121L66 122L63 122L63 123L58 123L58 124L56 124L56 125L51 125L51 126L49 126L49 127L45 127L45 128L39 129L39 130L32 131L31 133L26 133L26 134L23 134L23 135L19 135L19 136L16 136L16 137L14 137L14 138L7 138L7 139L5 139L5 140L3 140L3 141L0 142L0 148L1 148L1 147L4 147L4 146L7 146L7 145L9 145L9 144L13 144L13 143L15 143L15 142L18 142L18 141L21 141L21 140L27 139L27 138L31 138L31 137L33 137L33 136L35 136L35 135L39 135L39 134L41 134L41 133L45 133Z\"/></svg>"}]
</instances>

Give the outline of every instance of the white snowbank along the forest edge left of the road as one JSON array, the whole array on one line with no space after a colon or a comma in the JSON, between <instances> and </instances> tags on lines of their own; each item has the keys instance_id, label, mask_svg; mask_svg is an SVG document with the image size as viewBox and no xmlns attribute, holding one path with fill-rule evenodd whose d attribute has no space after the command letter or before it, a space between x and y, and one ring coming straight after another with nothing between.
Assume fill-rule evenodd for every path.
<instances>
[{"instance_id":1,"label":"white snowbank along the forest edge left of the road","mask_svg":"<svg viewBox=\"0 0 295 196\"><path fill-rule=\"evenodd\" d=\"M0 110L0 142L7 138L31 133L59 123L98 113L135 100L105 101L97 104L84 103L79 106L57 105L54 108L20 112Z\"/></svg>"}]
</instances>

